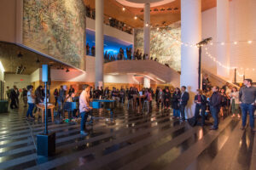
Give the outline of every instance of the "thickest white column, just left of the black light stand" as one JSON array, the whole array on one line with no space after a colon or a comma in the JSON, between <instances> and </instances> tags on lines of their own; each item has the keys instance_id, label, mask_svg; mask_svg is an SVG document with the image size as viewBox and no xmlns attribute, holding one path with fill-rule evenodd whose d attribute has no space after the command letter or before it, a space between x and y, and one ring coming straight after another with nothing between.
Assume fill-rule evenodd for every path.
<instances>
[{"instance_id":1,"label":"thickest white column, just left of the black light stand","mask_svg":"<svg viewBox=\"0 0 256 170\"><path fill-rule=\"evenodd\" d=\"M181 40L195 45L201 41L201 0L181 0ZM198 88L198 48L181 47L180 85L189 92L185 116L194 116L194 96Z\"/></svg>"}]
</instances>

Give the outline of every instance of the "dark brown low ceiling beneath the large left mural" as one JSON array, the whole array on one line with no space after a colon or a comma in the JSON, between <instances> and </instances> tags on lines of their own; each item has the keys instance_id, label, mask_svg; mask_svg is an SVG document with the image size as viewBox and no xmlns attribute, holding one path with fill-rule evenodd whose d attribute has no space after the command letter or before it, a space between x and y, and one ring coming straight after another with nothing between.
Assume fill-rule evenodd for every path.
<instances>
[{"instance_id":1,"label":"dark brown low ceiling beneath the large left mural","mask_svg":"<svg viewBox=\"0 0 256 170\"><path fill-rule=\"evenodd\" d=\"M21 55L18 56L18 54ZM5 73L12 74L15 74L17 67L21 65L25 68L22 75L30 75L38 68L42 68L42 65L50 65L53 69L73 70L68 65L63 65L58 61L9 42L0 42L0 60L3 63Z\"/></svg>"}]
</instances>

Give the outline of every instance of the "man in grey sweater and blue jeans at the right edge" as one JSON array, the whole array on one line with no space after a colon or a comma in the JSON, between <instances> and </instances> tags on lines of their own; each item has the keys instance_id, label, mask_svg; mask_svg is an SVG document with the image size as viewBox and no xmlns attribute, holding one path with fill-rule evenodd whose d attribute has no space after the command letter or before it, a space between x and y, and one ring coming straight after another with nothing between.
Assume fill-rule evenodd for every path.
<instances>
[{"instance_id":1,"label":"man in grey sweater and blue jeans at the right edge","mask_svg":"<svg viewBox=\"0 0 256 170\"><path fill-rule=\"evenodd\" d=\"M239 91L239 103L241 104L241 130L244 130L247 123L247 113L250 116L250 127L254 129L254 111L256 103L256 88L252 86L252 79L243 81L244 87Z\"/></svg>"}]
</instances>

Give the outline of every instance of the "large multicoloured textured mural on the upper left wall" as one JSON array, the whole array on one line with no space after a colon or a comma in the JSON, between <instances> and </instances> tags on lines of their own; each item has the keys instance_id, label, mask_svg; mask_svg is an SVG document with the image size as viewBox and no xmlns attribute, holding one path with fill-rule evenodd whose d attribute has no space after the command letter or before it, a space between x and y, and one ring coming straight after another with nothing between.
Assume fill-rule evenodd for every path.
<instances>
[{"instance_id":1,"label":"large multicoloured textured mural on the upper left wall","mask_svg":"<svg viewBox=\"0 0 256 170\"><path fill-rule=\"evenodd\" d=\"M24 0L23 43L84 70L83 0Z\"/></svg>"}]
</instances>

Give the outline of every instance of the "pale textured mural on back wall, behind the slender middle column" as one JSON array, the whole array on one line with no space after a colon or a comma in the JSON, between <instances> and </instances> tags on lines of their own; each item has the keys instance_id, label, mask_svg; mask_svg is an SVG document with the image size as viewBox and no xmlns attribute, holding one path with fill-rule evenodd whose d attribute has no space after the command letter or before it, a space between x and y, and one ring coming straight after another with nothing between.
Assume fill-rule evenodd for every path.
<instances>
[{"instance_id":1,"label":"pale textured mural on back wall, behind the slender middle column","mask_svg":"<svg viewBox=\"0 0 256 170\"><path fill-rule=\"evenodd\" d=\"M181 46L177 40L181 39L181 24L176 22L168 27L150 29L150 57L158 59L162 64L168 64L176 71L181 70ZM135 30L135 51L143 53L143 29Z\"/></svg>"}]
</instances>

